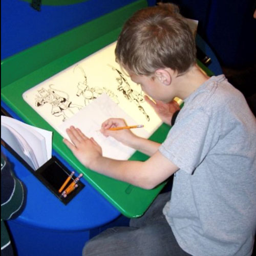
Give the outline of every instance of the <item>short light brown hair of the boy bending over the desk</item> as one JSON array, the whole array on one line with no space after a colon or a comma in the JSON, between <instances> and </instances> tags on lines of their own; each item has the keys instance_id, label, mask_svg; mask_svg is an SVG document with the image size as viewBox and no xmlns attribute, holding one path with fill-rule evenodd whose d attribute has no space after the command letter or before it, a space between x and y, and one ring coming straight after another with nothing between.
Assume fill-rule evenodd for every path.
<instances>
[{"instance_id":1,"label":"short light brown hair of the boy bending over the desk","mask_svg":"<svg viewBox=\"0 0 256 256\"><path fill-rule=\"evenodd\" d=\"M137 75L170 68L185 73L196 61L195 38L174 4L137 11L118 37L117 62Z\"/></svg>"}]
</instances>

